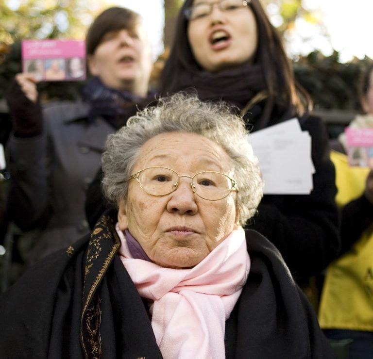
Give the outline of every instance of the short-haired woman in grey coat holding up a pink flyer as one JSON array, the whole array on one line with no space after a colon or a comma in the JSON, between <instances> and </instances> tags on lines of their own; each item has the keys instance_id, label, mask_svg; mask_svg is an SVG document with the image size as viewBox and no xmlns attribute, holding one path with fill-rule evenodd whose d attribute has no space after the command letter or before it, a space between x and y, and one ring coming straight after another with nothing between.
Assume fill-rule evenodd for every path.
<instances>
[{"instance_id":1,"label":"short-haired woman in grey coat holding up a pink flyer","mask_svg":"<svg viewBox=\"0 0 373 359\"><path fill-rule=\"evenodd\" d=\"M149 93L152 53L138 14L120 7L103 11L88 30L86 53L92 77L83 100L42 106L31 73L17 74L8 93L14 121L9 212L22 230L41 231L29 262L88 233L85 190L100 167L106 137ZM61 67L49 65L50 78L60 78ZM69 65L71 76L81 74L80 64Z\"/></svg>"}]
</instances>

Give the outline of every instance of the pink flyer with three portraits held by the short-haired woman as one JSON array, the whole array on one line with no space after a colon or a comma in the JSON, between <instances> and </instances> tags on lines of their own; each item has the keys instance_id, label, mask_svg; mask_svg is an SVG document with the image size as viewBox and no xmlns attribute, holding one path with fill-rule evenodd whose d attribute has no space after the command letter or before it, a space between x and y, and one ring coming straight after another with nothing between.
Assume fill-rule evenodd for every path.
<instances>
[{"instance_id":1,"label":"pink flyer with three portraits held by the short-haired woman","mask_svg":"<svg viewBox=\"0 0 373 359\"><path fill-rule=\"evenodd\" d=\"M22 71L39 81L82 81L85 68L83 40L22 41Z\"/></svg>"}]
</instances>

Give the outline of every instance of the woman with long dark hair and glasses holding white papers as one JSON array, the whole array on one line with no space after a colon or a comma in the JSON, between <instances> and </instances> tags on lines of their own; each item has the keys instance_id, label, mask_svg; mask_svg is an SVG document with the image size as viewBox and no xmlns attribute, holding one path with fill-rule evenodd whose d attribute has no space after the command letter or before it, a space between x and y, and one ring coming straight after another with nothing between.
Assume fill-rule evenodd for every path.
<instances>
[{"instance_id":1,"label":"woman with long dark hair and glasses holding white papers","mask_svg":"<svg viewBox=\"0 0 373 359\"><path fill-rule=\"evenodd\" d=\"M257 131L297 117L312 138L309 195L265 195L248 225L275 244L293 274L318 274L338 254L334 167L322 121L311 116L279 34L258 0L186 0L177 19L161 93L197 92L237 107Z\"/></svg>"}]
</instances>

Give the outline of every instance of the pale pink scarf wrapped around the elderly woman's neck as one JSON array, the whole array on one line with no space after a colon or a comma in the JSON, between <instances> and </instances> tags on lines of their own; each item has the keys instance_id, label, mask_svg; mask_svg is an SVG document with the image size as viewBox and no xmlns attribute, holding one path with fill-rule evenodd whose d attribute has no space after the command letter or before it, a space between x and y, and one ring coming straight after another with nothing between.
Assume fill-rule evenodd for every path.
<instances>
[{"instance_id":1,"label":"pale pink scarf wrapped around the elderly woman's neck","mask_svg":"<svg viewBox=\"0 0 373 359\"><path fill-rule=\"evenodd\" d=\"M133 259L125 236L120 259L141 297L153 300L152 327L165 359L225 358L225 321L246 282L250 258L245 232L233 230L199 264L171 269Z\"/></svg>"}]
</instances>

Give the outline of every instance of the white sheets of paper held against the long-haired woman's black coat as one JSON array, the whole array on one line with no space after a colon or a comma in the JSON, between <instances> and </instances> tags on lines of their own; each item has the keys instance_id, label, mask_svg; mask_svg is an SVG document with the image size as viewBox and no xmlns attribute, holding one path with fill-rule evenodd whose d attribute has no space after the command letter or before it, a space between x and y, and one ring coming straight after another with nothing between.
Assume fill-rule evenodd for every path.
<instances>
[{"instance_id":1,"label":"white sheets of paper held against the long-haired woman's black coat","mask_svg":"<svg viewBox=\"0 0 373 359\"><path fill-rule=\"evenodd\" d=\"M259 159L265 194L309 194L315 167L311 136L296 118L248 135Z\"/></svg>"}]
</instances>

